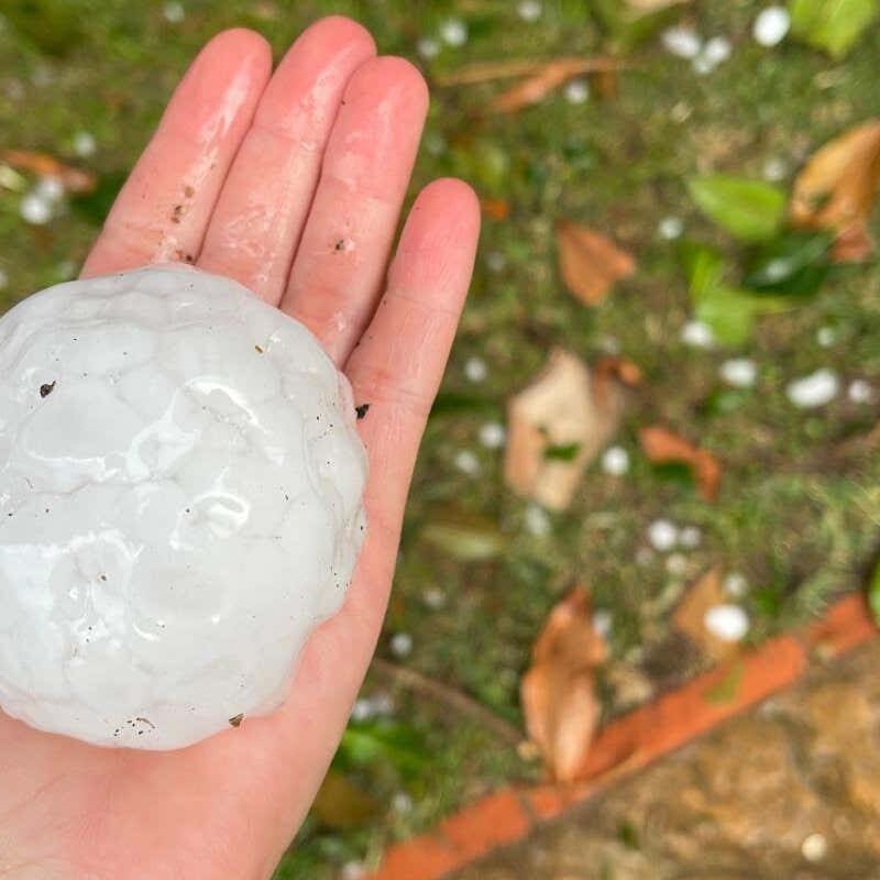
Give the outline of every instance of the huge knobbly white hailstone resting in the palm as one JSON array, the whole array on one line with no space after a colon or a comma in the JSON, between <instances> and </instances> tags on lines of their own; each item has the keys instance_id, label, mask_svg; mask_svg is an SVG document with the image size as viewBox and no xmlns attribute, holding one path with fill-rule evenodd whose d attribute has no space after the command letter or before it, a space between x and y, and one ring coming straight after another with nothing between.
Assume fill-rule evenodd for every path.
<instances>
[{"instance_id":1,"label":"huge knobbly white hailstone resting in the palm","mask_svg":"<svg viewBox=\"0 0 880 880\"><path fill-rule=\"evenodd\" d=\"M287 694L364 532L345 378L309 331L178 266L0 320L0 706L174 749Z\"/></svg>"}]
</instances>

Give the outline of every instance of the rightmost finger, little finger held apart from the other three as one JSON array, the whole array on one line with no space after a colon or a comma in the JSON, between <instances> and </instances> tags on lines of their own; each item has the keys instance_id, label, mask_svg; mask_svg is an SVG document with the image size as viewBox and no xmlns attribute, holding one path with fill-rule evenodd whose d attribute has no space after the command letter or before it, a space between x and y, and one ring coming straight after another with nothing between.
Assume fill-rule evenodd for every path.
<instances>
[{"instance_id":1,"label":"rightmost finger, little finger held apart from the other three","mask_svg":"<svg viewBox=\"0 0 880 880\"><path fill-rule=\"evenodd\" d=\"M398 528L425 421L473 271L480 208L461 180L436 180L409 213L388 286L345 365L370 455L371 534ZM393 559L389 564L393 564Z\"/></svg>"}]
</instances>

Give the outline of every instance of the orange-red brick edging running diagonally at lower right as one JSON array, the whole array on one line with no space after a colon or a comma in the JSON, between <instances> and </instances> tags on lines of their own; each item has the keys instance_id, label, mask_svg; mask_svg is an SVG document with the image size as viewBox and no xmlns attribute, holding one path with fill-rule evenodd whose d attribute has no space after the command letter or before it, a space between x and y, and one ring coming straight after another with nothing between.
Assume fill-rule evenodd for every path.
<instances>
[{"instance_id":1,"label":"orange-red brick edging running diagonally at lower right","mask_svg":"<svg viewBox=\"0 0 880 880\"><path fill-rule=\"evenodd\" d=\"M877 632L865 597L860 593L846 595L807 628L770 639L615 718L596 736L581 781L569 785L506 785L463 807L432 832L391 847L371 880L440 880L496 847L522 839L612 781L790 686L809 668L811 654L838 657Z\"/></svg>"}]
</instances>

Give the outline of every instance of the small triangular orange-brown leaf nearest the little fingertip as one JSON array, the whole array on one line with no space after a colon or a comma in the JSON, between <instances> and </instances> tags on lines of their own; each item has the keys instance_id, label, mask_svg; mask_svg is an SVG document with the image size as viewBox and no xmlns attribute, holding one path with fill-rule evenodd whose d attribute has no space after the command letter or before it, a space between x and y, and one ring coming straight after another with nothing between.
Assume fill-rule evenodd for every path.
<instances>
[{"instance_id":1,"label":"small triangular orange-brown leaf nearest the little fingertip","mask_svg":"<svg viewBox=\"0 0 880 880\"><path fill-rule=\"evenodd\" d=\"M587 306L597 306L615 282L636 271L631 254L600 232L571 220L557 222L557 244L562 280Z\"/></svg>"}]
</instances>

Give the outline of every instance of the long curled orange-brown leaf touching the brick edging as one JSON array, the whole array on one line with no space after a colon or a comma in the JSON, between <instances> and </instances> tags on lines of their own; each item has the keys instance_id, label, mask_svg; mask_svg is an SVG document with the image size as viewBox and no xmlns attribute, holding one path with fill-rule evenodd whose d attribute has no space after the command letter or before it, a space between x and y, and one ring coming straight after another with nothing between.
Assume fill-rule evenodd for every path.
<instances>
[{"instance_id":1,"label":"long curled orange-brown leaf touching the brick edging","mask_svg":"<svg viewBox=\"0 0 880 880\"><path fill-rule=\"evenodd\" d=\"M575 778L593 741L601 711L595 670L606 658L590 596L576 586L550 612L520 684L529 738L561 782Z\"/></svg>"}]
</instances>

